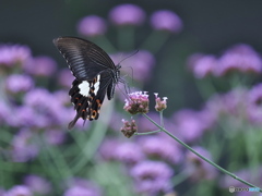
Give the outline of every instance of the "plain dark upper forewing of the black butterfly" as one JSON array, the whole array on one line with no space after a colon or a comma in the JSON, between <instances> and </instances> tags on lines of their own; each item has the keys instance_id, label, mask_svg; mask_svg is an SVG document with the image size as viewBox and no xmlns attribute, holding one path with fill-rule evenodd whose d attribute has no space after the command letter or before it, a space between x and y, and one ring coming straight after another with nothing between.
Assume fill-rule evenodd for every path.
<instances>
[{"instance_id":1,"label":"plain dark upper forewing of the black butterfly","mask_svg":"<svg viewBox=\"0 0 262 196\"><path fill-rule=\"evenodd\" d=\"M68 62L79 81L93 79L99 72L116 66L109 56L97 45L76 37L59 37L53 44Z\"/></svg>"}]
</instances>

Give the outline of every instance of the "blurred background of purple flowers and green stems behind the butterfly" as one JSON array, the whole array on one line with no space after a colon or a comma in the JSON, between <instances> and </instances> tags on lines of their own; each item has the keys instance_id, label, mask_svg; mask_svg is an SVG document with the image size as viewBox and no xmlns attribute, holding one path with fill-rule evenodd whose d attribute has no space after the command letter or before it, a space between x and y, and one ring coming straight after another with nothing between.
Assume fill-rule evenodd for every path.
<instances>
[{"instance_id":1,"label":"blurred background of purple flowers and green stems behind the butterfly","mask_svg":"<svg viewBox=\"0 0 262 196\"><path fill-rule=\"evenodd\" d=\"M52 44L88 39L131 91L167 97L168 131L262 186L261 1L0 0L0 195L231 195L247 187L164 133L126 138L122 85L96 122L74 117L71 75ZM157 130L133 117L139 132ZM5 196L4 195L4 196ZM255 193L236 193L255 195ZM257 194L258 195L258 194Z\"/></svg>"}]
</instances>

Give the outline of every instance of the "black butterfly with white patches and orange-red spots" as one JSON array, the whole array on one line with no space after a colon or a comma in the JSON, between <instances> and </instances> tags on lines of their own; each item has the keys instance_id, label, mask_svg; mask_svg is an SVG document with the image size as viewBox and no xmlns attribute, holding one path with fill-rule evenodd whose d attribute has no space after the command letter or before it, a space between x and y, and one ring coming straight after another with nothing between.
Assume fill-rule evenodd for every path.
<instances>
[{"instance_id":1,"label":"black butterfly with white patches and orange-red spots","mask_svg":"<svg viewBox=\"0 0 262 196\"><path fill-rule=\"evenodd\" d=\"M121 68L115 65L109 56L97 45L76 37L59 37L53 44L68 62L75 79L69 90L76 110L69 123L71 130L79 118L97 120L105 95L110 100L120 79Z\"/></svg>"}]
</instances>

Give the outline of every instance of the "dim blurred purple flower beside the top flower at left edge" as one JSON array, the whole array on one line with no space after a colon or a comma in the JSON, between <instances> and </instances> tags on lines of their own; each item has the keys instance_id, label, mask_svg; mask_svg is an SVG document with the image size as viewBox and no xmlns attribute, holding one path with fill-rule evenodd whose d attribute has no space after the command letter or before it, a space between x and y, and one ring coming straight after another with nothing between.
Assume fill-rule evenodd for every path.
<instances>
[{"instance_id":1,"label":"dim blurred purple flower beside the top flower at left edge","mask_svg":"<svg viewBox=\"0 0 262 196\"><path fill-rule=\"evenodd\" d=\"M28 61L24 70L36 76L51 76L57 70L57 62L50 57L39 56Z\"/></svg>"}]
</instances>

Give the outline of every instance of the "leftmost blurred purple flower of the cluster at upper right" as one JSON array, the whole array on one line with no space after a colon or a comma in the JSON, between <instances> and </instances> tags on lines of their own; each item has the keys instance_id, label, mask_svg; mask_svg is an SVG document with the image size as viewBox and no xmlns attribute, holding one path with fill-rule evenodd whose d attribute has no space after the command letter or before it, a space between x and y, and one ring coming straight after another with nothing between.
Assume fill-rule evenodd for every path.
<instances>
[{"instance_id":1,"label":"leftmost blurred purple flower of the cluster at upper right","mask_svg":"<svg viewBox=\"0 0 262 196\"><path fill-rule=\"evenodd\" d=\"M189 66L198 78L215 74L218 66L217 59L214 56L193 54L189 59Z\"/></svg>"}]
</instances>

